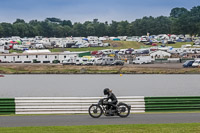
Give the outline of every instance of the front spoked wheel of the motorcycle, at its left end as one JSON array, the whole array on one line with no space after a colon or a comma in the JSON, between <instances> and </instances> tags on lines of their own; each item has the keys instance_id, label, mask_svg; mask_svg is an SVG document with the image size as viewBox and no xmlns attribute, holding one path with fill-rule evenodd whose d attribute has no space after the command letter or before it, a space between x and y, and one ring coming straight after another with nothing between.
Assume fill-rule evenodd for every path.
<instances>
[{"instance_id":1,"label":"front spoked wheel of the motorcycle, at its left end","mask_svg":"<svg viewBox=\"0 0 200 133\"><path fill-rule=\"evenodd\" d=\"M103 110L99 105L91 105L88 109L89 115L93 118L99 118L102 113Z\"/></svg>"}]
</instances>

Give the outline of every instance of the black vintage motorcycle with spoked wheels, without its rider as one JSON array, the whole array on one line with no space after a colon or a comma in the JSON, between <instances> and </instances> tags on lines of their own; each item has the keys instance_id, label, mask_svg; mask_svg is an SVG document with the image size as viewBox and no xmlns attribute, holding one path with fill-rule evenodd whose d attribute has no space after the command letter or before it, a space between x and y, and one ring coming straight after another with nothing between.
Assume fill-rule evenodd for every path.
<instances>
[{"instance_id":1,"label":"black vintage motorcycle with spoked wheels, without its rider","mask_svg":"<svg viewBox=\"0 0 200 133\"><path fill-rule=\"evenodd\" d=\"M125 103L118 103L108 109L108 101L106 98L100 99L98 104L92 104L89 109L89 115L93 118L99 118L102 114L105 116L127 117L130 114L131 106Z\"/></svg>"}]
</instances>

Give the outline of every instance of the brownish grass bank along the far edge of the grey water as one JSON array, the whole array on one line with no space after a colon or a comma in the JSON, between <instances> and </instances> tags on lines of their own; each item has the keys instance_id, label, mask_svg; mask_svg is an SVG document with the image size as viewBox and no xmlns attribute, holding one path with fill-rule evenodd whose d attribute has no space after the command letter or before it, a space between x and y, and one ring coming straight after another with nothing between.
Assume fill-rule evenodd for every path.
<instances>
[{"instance_id":1,"label":"brownish grass bank along the far edge of the grey water","mask_svg":"<svg viewBox=\"0 0 200 133\"><path fill-rule=\"evenodd\" d=\"M0 64L1 74L200 74L199 68Z\"/></svg>"}]
</instances>

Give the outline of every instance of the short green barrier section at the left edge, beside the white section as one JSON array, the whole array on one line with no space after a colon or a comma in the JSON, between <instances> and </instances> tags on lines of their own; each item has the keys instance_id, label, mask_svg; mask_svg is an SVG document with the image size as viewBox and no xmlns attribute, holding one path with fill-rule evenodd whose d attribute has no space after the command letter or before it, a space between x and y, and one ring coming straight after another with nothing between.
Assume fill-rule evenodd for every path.
<instances>
[{"instance_id":1,"label":"short green barrier section at the left edge, beside the white section","mask_svg":"<svg viewBox=\"0 0 200 133\"><path fill-rule=\"evenodd\" d=\"M14 98L0 98L0 115L15 114Z\"/></svg>"}]
</instances>

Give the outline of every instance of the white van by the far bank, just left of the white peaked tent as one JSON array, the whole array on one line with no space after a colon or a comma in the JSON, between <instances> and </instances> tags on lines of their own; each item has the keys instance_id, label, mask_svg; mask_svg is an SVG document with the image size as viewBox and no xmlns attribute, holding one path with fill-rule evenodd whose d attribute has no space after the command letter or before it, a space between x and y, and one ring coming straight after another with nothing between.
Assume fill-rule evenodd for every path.
<instances>
[{"instance_id":1,"label":"white van by the far bank, just left of the white peaked tent","mask_svg":"<svg viewBox=\"0 0 200 133\"><path fill-rule=\"evenodd\" d=\"M151 56L138 56L135 60L133 60L133 64L147 64L152 63Z\"/></svg>"}]
</instances>

